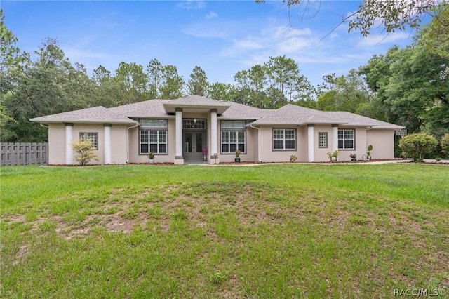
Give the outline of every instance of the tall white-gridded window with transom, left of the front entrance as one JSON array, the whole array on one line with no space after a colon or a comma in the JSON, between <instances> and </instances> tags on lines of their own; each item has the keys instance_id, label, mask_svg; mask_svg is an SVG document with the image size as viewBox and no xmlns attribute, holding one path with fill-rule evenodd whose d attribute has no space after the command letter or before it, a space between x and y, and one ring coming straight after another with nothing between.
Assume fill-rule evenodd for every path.
<instances>
[{"instance_id":1,"label":"tall white-gridded window with transom, left of the front entrance","mask_svg":"<svg viewBox=\"0 0 449 299\"><path fill-rule=\"evenodd\" d=\"M140 154L167 154L167 120L140 119Z\"/></svg>"}]
</instances>

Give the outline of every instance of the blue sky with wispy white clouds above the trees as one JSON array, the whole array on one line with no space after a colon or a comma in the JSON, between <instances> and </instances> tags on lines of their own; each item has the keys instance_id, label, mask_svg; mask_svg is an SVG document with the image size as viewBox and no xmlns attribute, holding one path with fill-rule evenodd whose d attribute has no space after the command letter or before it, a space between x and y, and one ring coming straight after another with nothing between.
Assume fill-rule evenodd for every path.
<instances>
[{"instance_id":1,"label":"blue sky with wispy white clouds above the trees","mask_svg":"<svg viewBox=\"0 0 449 299\"><path fill-rule=\"evenodd\" d=\"M326 74L345 75L374 54L412 43L410 31L365 38L344 24L332 32L359 3L309 1L290 12L282 1L249 0L1 1L1 8L22 51L58 39L72 64L90 74L99 65L114 73L121 61L146 68L156 58L175 65L185 81L198 65L209 82L233 83L236 72L286 55L316 85Z\"/></svg>"}]
</instances>

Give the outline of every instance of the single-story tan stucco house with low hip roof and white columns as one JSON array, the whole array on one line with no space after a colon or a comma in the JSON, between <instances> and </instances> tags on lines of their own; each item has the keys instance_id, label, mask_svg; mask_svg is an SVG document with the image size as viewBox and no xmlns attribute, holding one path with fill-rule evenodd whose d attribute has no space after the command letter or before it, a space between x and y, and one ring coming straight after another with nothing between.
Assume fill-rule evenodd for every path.
<instances>
[{"instance_id":1,"label":"single-story tan stucco house with low hip roof and white columns","mask_svg":"<svg viewBox=\"0 0 449 299\"><path fill-rule=\"evenodd\" d=\"M174 164L234 161L341 161L366 154L394 158L394 131L403 128L349 112L324 112L297 105L258 109L192 95L102 106L30 119L48 127L48 164L75 164L72 142L89 138L99 161L93 164Z\"/></svg>"}]
</instances>

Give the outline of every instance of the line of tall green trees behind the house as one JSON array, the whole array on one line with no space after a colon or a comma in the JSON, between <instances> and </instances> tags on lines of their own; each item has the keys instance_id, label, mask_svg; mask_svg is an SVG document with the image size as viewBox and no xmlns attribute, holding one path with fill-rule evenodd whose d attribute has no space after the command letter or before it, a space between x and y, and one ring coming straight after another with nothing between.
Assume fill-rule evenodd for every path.
<instances>
[{"instance_id":1,"label":"line of tall green trees behind the house","mask_svg":"<svg viewBox=\"0 0 449 299\"><path fill-rule=\"evenodd\" d=\"M65 57L55 39L46 39L34 60L20 51L17 38L1 16L2 142L43 142L45 128L28 119L102 105L114 107L154 98L203 95L274 109L292 103L325 111L348 111L406 126L410 133L426 132L441 138L449 132L448 5L415 36L406 48L394 46L373 55L348 74L328 74L312 86L297 63L286 56L234 74L234 84L208 81L201 67L189 79L175 65L153 58L146 66L120 62L114 73L100 65L86 67Z\"/></svg>"}]
</instances>

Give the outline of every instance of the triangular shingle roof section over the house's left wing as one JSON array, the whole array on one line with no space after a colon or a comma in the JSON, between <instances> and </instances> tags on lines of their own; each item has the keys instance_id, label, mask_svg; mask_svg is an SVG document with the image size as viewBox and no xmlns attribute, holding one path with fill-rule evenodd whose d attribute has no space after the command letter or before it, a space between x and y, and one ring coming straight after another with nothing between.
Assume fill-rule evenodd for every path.
<instances>
[{"instance_id":1,"label":"triangular shingle roof section over the house's left wing","mask_svg":"<svg viewBox=\"0 0 449 299\"><path fill-rule=\"evenodd\" d=\"M135 124L133 119L116 114L103 106L91 107L86 109L62 112L58 114L46 115L44 117L35 117L30 119L40 123L51 122L86 122L86 123L112 123L112 124Z\"/></svg>"}]
</instances>

